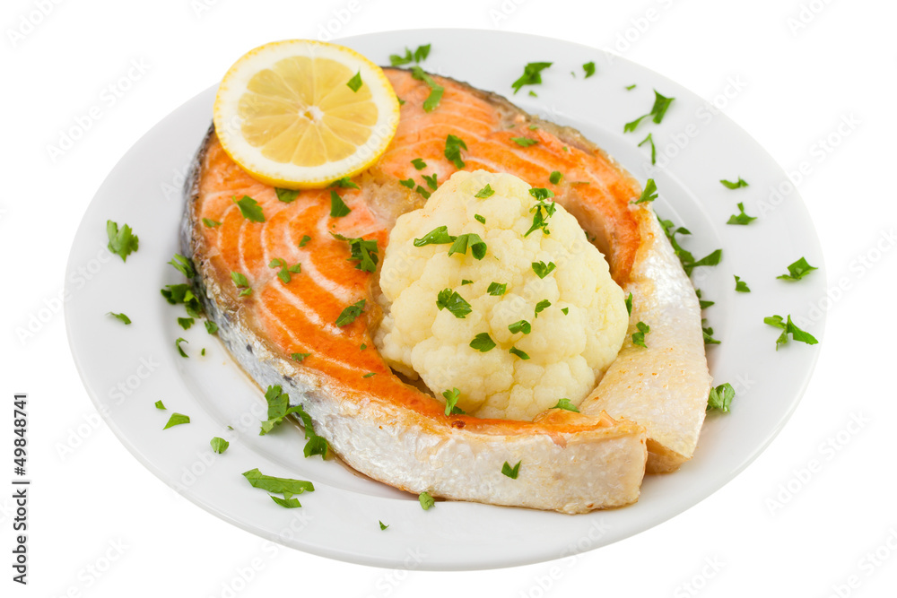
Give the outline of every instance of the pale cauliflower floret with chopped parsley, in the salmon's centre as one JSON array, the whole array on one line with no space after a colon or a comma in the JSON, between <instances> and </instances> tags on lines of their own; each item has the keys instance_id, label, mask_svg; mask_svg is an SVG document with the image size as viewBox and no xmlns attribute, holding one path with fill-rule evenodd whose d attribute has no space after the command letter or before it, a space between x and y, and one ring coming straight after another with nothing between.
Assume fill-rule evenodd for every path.
<instances>
[{"instance_id":1,"label":"pale cauliflower floret with chopped parsley, in the salmon's centre","mask_svg":"<svg viewBox=\"0 0 897 598\"><path fill-rule=\"evenodd\" d=\"M475 197L487 184L494 193ZM552 215L542 209L550 234L526 234L536 214L529 191L509 174L457 172L423 208L399 217L383 258L384 316L374 336L380 353L397 371L420 376L440 400L457 387L457 406L478 417L532 420L561 398L579 405L629 325L604 256L560 204ZM415 247L415 238L442 226L454 238L479 236L485 255L477 259L467 247L449 256L446 236ZM539 263L554 267L540 277ZM493 283L506 285L504 293L489 292ZM495 345L488 351L471 346L482 334Z\"/></svg>"}]
</instances>

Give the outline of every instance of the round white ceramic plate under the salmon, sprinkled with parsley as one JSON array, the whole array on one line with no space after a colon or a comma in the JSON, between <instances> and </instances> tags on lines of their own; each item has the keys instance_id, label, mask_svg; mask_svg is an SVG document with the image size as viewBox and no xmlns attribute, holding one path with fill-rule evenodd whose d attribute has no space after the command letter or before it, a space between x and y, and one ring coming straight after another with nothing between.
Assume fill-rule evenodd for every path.
<instances>
[{"instance_id":1,"label":"round white ceramic plate under the salmon, sprinkled with parsley","mask_svg":"<svg viewBox=\"0 0 897 598\"><path fill-rule=\"evenodd\" d=\"M823 254L804 205L770 156L690 91L594 48L478 30L340 41L379 64L405 46L431 43L426 69L574 126L642 182L655 178L658 213L693 233L684 246L696 257L723 248L722 263L698 268L692 280L705 299L716 301L705 316L722 344L710 347L708 357L716 384L736 387L732 412L710 415L692 461L675 474L648 476L637 504L578 516L464 502L423 511L414 496L338 463L305 459L299 429L283 426L257 436L264 418L258 388L202 323L181 330L176 317L183 308L159 293L183 280L166 263L179 252L180 186L212 118L210 89L153 127L118 162L84 215L69 257L65 318L74 360L93 402L137 460L200 507L252 533L334 559L423 569L507 567L595 549L692 507L753 461L797 406L819 347L790 342L776 351L778 331L763 317L792 314L806 318L820 340L823 331L822 316L812 318L825 288ZM554 63L544 83L511 96L510 83L535 61ZM581 65L589 61L597 74L584 80ZM627 91L632 83L637 87ZM623 134L624 123L651 108L652 89L675 97L663 123L642 123L636 133ZM649 132L658 168L651 168L648 148L636 146ZM750 186L729 190L718 182L738 177ZM737 202L760 219L728 226ZM140 237L139 251L126 264L105 249L107 220L130 224ZM797 283L776 280L800 256L820 270ZM734 274L753 292L736 293ZM124 312L134 323L122 325L109 311ZM175 351L181 336L189 342L189 359ZM153 407L160 399L169 411ZM189 415L191 423L163 431L171 412ZM210 449L215 436L231 441L224 455ZM240 475L252 468L314 481L317 490L299 497L302 508L284 509ZM389 524L386 532L378 521Z\"/></svg>"}]
</instances>

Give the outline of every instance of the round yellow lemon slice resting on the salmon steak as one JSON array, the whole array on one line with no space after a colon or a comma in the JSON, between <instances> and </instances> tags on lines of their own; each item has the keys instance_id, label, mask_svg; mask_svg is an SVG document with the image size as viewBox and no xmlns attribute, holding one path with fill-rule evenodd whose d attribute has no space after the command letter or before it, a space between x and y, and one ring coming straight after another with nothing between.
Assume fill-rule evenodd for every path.
<instances>
[{"instance_id":1,"label":"round yellow lemon slice resting on the salmon steak","mask_svg":"<svg viewBox=\"0 0 897 598\"><path fill-rule=\"evenodd\" d=\"M214 105L215 133L231 159L292 189L367 169L392 141L398 115L396 91L378 65L309 39L249 51L224 75Z\"/></svg>"}]
</instances>

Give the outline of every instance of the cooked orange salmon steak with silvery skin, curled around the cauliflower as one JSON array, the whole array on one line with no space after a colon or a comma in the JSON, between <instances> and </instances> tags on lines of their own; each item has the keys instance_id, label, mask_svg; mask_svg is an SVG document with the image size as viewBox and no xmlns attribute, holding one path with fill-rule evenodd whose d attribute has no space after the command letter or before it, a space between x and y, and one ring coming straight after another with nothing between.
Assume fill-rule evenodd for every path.
<instances>
[{"instance_id":1,"label":"cooked orange salmon steak with silvery skin, curled around the cauliflower","mask_svg":"<svg viewBox=\"0 0 897 598\"><path fill-rule=\"evenodd\" d=\"M222 342L259 386L280 385L292 404L301 403L347 464L401 490L571 514L634 502L649 448L651 471L691 457L710 385L697 298L654 213L631 204L639 184L581 134L501 96L432 75L445 91L426 112L429 88L405 70L384 70L405 101L400 123L387 152L353 178L358 188L335 189L351 209L344 217L330 216L328 189L279 201L273 187L223 152L213 130L206 135L185 187L182 243ZM595 239L614 280L637 298L631 332L637 315L652 334L668 326L662 350L640 354L624 344L626 365L611 366L582 412L553 409L533 421L446 416L442 403L393 373L374 346L379 264L374 273L356 268L349 244L331 233L374 239L382 256L396 217L424 201L422 174L442 182L457 170L445 155L448 134L466 143L463 169L509 172L554 192ZM511 137L537 143L523 147ZM418 158L427 165L420 171L412 164ZM558 184L549 182L553 170L564 174ZM414 189L400 183L408 178ZM234 199L243 195L257 201L264 222L240 213ZM274 259L301 264L301 272L283 282L269 267ZM234 272L247 277L250 294L240 295ZM675 284L660 288L669 282ZM658 290L663 297L650 299ZM361 300L361 315L337 325L344 308ZM681 307L675 314L671 303ZM666 322L671 316L675 321ZM673 342L680 334L687 347ZM652 363L664 373L658 384L636 393L626 388L628 372L644 373ZM687 397L679 395L683 389ZM651 417L640 421L643 412ZM518 462L517 479L501 473L503 464Z\"/></svg>"}]
</instances>

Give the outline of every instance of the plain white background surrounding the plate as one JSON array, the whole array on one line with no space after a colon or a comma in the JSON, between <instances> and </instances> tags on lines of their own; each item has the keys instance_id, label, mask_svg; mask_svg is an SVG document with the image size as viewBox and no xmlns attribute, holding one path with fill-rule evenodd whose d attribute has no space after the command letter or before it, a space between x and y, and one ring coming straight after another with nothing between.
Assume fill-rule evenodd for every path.
<instances>
[{"instance_id":1,"label":"plain white background surrounding the plate","mask_svg":"<svg viewBox=\"0 0 897 598\"><path fill-rule=\"evenodd\" d=\"M36 12L41 5L46 15ZM893 595L897 484L887 430L897 418L889 292L897 255L897 4L7 0L2 13L0 391L4 405L13 392L30 394L36 485L27 587L10 581L12 501L5 490L0 495L0 594L205 597L229 595L226 586L236 583L239 596ZM263 541L180 498L96 423L54 301L91 196L145 131L220 79L243 52L273 39L317 39L327 22L336 37L470 27L569 39L613 49L707 100L730 78L746 82L725 112L783 169L808 163L798 189L822 240L829 287L843 279L847 290L832 291L825 303L823 351L803 402L745 472L683 515L589 552L573 567L390 572L261 551ZM104 88L132 60L145 73L114 106L102 103ZM52 160L48 144L95 104L103 106L100 119ZM838 136L851 116L858 124ZM837 147L819 153L817 143L830 134ZM17 329L41 308L53 315L33 337L20 338ZM864 423L850 424L857 420ZM2 472L12 467L11 429L12 408L4 406ZM59 446L79 441L60 455ZM88 567L104 567L105 556L114 562L94 576ZM241 571L252 577L248 584L234 581Z\"/></svg>"}]
</instances>

